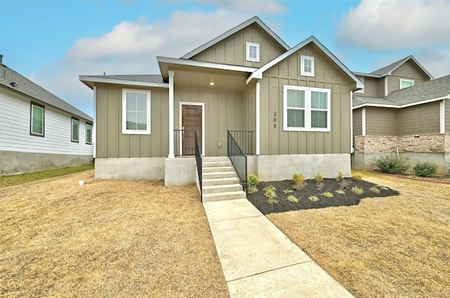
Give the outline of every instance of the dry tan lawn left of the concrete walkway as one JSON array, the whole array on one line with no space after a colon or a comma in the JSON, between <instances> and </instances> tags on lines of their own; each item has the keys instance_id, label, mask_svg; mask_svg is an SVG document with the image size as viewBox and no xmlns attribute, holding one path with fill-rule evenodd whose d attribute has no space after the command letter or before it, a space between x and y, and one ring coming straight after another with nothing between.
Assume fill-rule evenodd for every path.
<instances>
[{"instance_id":1,"label":"dry tan lawn left of the concrete walkway","mask_svg":"<svg viewBox=\"0 0 450 298\"><path fill-rule=\"evenodd\" d=\"M0 190L1 297L228 295L193 185L85 171Z\"/></svg>"}]
</instances>

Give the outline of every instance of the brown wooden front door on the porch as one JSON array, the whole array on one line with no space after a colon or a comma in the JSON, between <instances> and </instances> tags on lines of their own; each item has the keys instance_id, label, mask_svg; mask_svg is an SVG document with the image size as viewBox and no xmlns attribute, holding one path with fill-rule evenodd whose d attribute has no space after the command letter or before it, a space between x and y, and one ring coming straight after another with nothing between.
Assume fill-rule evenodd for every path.
<instances>
[{"instance_id":1,"label":"brown wooden front door on the porch","mask_svg":"<svg viewBox=\"0 0 450 298\"><path fill-rule=\"evenodd\" d=\"M202 107L183 105L183 155L195 154L195 134L197 133L200 153L202 151Z\"/></svg>"}]
</instances>

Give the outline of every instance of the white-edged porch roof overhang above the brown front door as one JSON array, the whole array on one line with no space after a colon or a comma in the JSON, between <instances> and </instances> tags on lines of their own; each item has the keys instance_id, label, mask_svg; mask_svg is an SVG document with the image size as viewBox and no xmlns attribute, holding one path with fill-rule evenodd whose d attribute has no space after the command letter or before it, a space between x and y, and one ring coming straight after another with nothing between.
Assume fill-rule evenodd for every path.
<instances>
[{"instance_id":1,"label":"white-edged porch roof overhang above the brown front door","mask_svg":"<svg viewBox=\"0 0 450 298\"><path fill-rule=\"evenodd\" d=\"M217 72L243 72L247 74L251 74L255 72L257 68L255 67L245 67L239 65L228 65L228 64L220 64L220 63L210 63L196 60L186 60L186 59L178 59L178 58L168 58L168 57L157 57L158 64L160 65L160 71L162 74L162 79L164 82L168 82L169 79L169 70L193 70L199 71L200 69L208 69L211 71Z\"/></svg>"}]
</instances>

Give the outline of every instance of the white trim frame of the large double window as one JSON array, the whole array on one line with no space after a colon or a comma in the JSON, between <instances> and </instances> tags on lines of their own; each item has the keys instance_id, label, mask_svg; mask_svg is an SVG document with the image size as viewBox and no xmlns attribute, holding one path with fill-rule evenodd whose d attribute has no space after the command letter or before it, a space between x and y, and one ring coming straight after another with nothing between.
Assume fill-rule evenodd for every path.
<instances>
[{"instance_id":1,"label":"white trim frame of the large double window","mask_svg":"<svg viewBox=\"0 0 450 298\"><path fill-rule=\"evenodd\" d=\"M288 89L302 90L304 94L304 127L288 127ZM311 127L311 91L327 93L327 127L317 128ZM283 130L284 131L331 131L331 90L321 88L310 88L300 86L283 86Z\"/></svg>"}]
</instances>

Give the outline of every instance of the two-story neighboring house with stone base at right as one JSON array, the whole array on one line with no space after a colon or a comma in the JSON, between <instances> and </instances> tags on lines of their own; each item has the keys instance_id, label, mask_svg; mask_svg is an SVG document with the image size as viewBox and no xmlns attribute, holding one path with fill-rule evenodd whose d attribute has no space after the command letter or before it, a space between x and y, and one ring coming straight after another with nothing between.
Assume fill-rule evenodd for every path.
<instances>
[{"instance_id":1,"label":"two-story neighboring house with stone base at right","mask_svg":"<svg viewBox=\"0 0 450 298\"><path fill-rule=\"evenodd\" d=\"M352 167L374 169L373 159L399 153L411 164L434 162L444 174L450 162L450 76L433 79L413 56L354 74L364 89L353 95Z\"/></svg>"}]
</instances>

